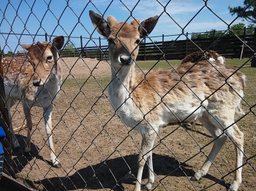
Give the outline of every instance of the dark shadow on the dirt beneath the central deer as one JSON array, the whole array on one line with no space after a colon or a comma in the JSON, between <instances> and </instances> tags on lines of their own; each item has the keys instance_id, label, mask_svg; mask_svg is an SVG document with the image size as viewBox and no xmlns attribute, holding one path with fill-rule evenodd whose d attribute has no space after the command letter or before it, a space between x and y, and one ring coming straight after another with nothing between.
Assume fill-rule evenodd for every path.
<instances>
[{"instance_id":1,"label":"dark shadow on the dirt beneath the central deer","mask_svg":"<svg viewBox=\"0 0 256 191\"><path fill-rule=\"evenodd\" d=\"M36 184L42 184L45 190L98 190L110 189L114 191L124 190L122 184L136 182L138 172L138 155L127 155L115 159L105 160L97 165L89 165L72 174L71 176L53 177L42 179ZM189 165L178 163L170 156L153 154L154 173L165 176L193 176L195 171ZM148 168L145 165L143 179L147 179ZM206 175L205 179L211 179L223 187L229 187L224 181L214 176Z\"/></svg>"}]
</instances>

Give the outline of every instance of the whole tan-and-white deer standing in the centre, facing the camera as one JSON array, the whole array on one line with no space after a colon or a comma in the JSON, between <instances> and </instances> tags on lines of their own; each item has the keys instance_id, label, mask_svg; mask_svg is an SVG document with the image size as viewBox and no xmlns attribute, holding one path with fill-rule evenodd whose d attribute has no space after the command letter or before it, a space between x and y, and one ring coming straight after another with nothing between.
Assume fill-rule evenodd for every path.
<instances>
[{"instance_id":1,"label":"whole tan-and-white deer standing in the centre, facing the camera","mask_svg":"<svg viewBox=\"0 0 256 191\"><path fill-rule=\"evenodd\" d=\"M198 119L211 133L214 146L202 168L192 177L205 176L227 138L236 147L236 174L231 190L241 184L244 135L234 121L241 112L245 76L231 66L208 61L184 63L176 69L157 69L136 74L135 59L140 39L154 29L158 16L140 23L118 23L90 11L94 27L108 39L111 81L108 86L110 103L125 125L138 130L142 144L138 155L138 174L135 191L140 190L143 167L148 165L146 189L154 184L152 152L159 128Z\"/></svg>"}]
</instances>

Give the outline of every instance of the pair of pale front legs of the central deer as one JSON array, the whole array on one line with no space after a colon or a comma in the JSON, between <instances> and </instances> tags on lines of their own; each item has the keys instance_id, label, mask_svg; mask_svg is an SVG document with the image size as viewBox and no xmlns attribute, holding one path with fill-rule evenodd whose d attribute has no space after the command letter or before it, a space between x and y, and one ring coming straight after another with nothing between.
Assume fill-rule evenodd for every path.
<instances>
[{"instance_id":1,"label":"pair of pale front legs of the central deer","mask_svg":"<svg viewBox=\"0 0 256 191\"><path fill-rule=\"evenodd\" d=\"M141 143L140 154L138 157L138 174L137 174L137 182L135 185L135 191L140 191L143 168L146 161L148 163L148 182L146 182L146 189L150 190L152 185L154 184L152 149L154 146L154 141L156 139L157 133L155 131L148 132L148 133L141 132L141 136L142 136L142 143Z\"/></svg>"}]
</instances>

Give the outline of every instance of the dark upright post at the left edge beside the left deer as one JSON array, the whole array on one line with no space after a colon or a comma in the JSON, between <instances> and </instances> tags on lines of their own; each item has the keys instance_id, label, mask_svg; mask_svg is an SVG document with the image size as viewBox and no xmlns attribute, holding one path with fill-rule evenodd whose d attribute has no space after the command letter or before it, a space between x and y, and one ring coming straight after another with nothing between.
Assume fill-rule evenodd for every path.
<instances>
[{"instance_id":1,"label":"dark upright post at the left edge beside the left deer","mask_svg":"<svg viewBox=\"0 0 256 191\"><path fill-rule=\"evenodd\" d=\"M7 105L5 103L5 93L4 93L4 79L3 71L1 66L1 51L0 51L0 125L6 133L6 139L2 142L4 146L4 173L7 175L15 177L15 172L12 163L12 133L10 132L10 121Z\"/></svg>"}]
</instances>

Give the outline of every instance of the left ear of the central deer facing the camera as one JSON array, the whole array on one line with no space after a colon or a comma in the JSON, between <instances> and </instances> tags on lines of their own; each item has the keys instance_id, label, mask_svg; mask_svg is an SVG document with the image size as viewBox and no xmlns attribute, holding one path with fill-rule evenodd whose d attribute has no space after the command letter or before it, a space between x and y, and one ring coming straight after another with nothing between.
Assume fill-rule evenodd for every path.
<instances>
[{"instance_id":1,"label":"left ear of the central deer facing the camera","mask_svg":"<svg viewBox=\"0 0 256 191\"><path fill-rule=\"evenodd\" d=\"M91 17L91 22L98 33L107 37L108 22L105 20L105 18L91 10L89 11L89 16Z\"/></svg>"}]
</instances>

